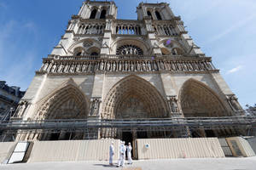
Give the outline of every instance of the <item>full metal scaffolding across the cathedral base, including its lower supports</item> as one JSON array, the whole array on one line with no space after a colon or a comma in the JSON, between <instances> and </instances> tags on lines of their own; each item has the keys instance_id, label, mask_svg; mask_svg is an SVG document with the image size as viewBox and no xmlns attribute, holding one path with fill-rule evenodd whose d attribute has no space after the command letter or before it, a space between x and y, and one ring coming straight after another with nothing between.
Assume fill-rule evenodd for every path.
<instances>
[{"instance_id":1,"label":"full metal scaffolding across the cathedral base, including its lower supports","mask_svg":"<svg viewBox=\"0 0 256 170\"><path fill-rule=\"evenodd\" d=\"M179 132L188 137L189 132L204 130L243 130L253 135L256 128L256 116L223 117L185 117L185 118L148 118L148 119L56 119L40 121L17 121L0 123L0 131L5 133L69 133L80 132L94 136L95 129L115 129L121 132ZM94 130L92 130L94 129ZM237 134L236 134L237 135ZM244 134L243 134L244 135Z\"/></svg>"}]
</instances>

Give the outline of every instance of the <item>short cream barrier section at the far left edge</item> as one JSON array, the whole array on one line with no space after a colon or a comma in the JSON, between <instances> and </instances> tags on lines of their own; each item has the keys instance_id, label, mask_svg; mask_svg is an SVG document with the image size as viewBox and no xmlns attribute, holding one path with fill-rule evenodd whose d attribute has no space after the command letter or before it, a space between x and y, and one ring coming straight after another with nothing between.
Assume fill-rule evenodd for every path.
<instances>
[{"instance_id":1,"label":"short cream barrier section at the far left edge","mask_svg":"<svg viewBox=\"0 0 256 170\"><path fill-rule=\"evenodd\" d=\"M7 163L15 145L16 142L0 142L0 163Z\"/></svg>"}]
</instances>

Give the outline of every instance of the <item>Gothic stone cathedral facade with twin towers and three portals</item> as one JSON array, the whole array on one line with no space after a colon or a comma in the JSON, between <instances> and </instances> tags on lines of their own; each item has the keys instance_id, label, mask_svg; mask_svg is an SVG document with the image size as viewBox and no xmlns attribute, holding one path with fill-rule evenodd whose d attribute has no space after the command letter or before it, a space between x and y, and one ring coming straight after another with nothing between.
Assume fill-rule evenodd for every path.
<instances>
[{"instance_id":1,"label":"Gothic stone cathedral facade with twin towers and three portals","mask_svg":"<svg viewBox=\"0 0 256 170\"><path fill-rule=\"evenodd\" d=\"M13 118L100 121L243 115L212 58L196 46L167 3L140 3L137 20L116 16L113 2L85 1L43 59ZM55 139L65 139L65 133ZM226 133L234 131L196 131L201 137ZM124 135L117 129L96 130L96 138ZM161 135L136 129L131 134L133 139ZM18 137L52 139L38 132ZM83 133L72 138L86 139Z\"/></svg>"}]
</instances>

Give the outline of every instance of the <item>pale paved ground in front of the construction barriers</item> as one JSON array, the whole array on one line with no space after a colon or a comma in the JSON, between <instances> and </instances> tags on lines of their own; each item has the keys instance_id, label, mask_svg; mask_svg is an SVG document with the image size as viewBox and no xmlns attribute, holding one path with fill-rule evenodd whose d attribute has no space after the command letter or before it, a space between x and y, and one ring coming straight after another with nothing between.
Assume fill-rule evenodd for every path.
<instances>
[{"instance_id":1,"label":"pale paved ground in front of the construction barriers","mask_svg":"<svg viewBox=\"0 0 256 170\"><path fill-rule=\"evenodd\" d=\"M110 167L108 161L41 162L0 165L2 170L255 170L256 156L247 158L206 158L134 161L125 167Z\"/></svg>"}]
</instances>

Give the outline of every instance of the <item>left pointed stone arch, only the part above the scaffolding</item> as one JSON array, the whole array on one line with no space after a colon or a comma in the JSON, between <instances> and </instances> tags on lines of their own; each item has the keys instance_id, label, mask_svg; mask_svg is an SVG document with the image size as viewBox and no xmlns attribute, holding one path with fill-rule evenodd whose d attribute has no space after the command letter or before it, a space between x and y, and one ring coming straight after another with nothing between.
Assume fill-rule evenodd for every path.
<instances>
[{"instance_id":1,"label":"left pointed stone arch, only the part above the scaffolding","mask_svg":"<svg viewBox=\"0 0 256 170\"><path fill-rule=\"evenodd\" d=\"M89 112L89 99L70 78L60 88L38 102L34 119L84 119Z\"/></svg>"}]
</instances>

